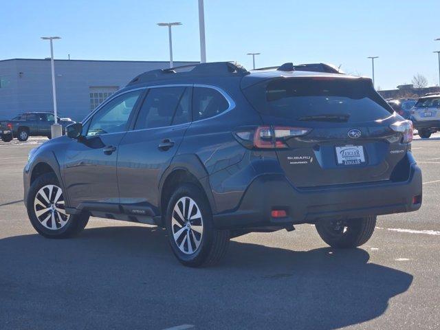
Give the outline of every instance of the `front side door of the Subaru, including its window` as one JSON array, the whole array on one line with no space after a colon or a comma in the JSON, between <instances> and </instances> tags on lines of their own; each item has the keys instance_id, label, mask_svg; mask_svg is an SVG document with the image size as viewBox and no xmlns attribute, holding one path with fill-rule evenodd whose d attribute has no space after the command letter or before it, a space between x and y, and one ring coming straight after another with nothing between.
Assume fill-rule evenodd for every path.
<instances>
[{"instance_id":1,"label":"front side door of the Subaru, including its window","mask_svg":"<svg viewBox=\"0 0 440 330\"><path fill-rule=\"evenodd\" d=\"M118 203L118 147L143 91L116 96L84 123L84 137L72 140L64 162L69 206L82 202Z\"/></svg>"}]
</instances>

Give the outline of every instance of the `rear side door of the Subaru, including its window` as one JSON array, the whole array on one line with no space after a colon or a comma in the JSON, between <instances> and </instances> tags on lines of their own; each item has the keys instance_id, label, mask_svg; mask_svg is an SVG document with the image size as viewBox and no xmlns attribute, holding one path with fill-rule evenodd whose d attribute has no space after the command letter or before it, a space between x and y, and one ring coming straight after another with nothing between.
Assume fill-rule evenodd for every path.
<instances>
[{"instance_id":1,"label":"rear side door of the Subaru, including its window","mask_svg":"<svg viewBox=\"0 0 440 330\"><path fill-rule=\"evenodd\" d=\"M120 201L128 212L157 207L159 180L190 125L191 94L186 85L148 90L133 130L119 147Z\"/></svg>"}]
</instances>

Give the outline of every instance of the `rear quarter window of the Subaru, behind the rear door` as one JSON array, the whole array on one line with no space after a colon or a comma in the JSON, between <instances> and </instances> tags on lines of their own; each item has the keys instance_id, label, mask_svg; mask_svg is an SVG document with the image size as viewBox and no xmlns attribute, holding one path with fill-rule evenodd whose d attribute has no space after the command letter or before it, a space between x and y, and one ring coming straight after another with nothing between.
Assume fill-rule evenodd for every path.
<instances>
[{"instance_id":1,"label":"rear quarter window of the Subaru, behind the rear door","mask_svg":"<svg viewBox=\"0 0 440 330\"><path fill-rule=\"evenodd\" d=\"M192 93L193 121L214 117L229 107L228 101L215 89L194 87Z\"/></svg>"}]
</instances>

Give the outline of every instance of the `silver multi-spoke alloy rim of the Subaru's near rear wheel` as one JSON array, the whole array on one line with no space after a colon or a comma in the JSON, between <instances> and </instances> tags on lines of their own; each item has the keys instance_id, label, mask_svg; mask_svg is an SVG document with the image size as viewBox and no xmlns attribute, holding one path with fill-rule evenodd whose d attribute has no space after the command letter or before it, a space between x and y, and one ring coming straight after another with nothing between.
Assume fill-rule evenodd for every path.
<instances>
[{"instance_id":1,"label":"silver multi-spoke alloy rim of the Subaru's near rear wheel","mask_svg":"<svg viewBox=\"0 0 440 330\"><path fill-rule=\"evenodd\" d=\"M175 203L171 228L174 241L181 252L197 252L203 238L203 219L199 206L192 198L181 197Z\"/></svg>"}]
</instances>

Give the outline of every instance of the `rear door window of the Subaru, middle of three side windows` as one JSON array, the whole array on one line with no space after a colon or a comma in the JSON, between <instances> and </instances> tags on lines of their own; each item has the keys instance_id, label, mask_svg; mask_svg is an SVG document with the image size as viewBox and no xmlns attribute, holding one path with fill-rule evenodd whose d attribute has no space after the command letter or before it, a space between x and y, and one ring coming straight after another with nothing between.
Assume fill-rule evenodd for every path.
<instances>
[{"instance_id":1,"label":"rear door window of the Subaru, middle of three side windows","mask_svg":"<svg viewBox=\"0 0 440 330\"><path fill-rule=\"evenodd\" d=\"M190 89L186 87L151 88L137 116L135 129L153 129L189 122Z\"/></svg>"}]
</instances>

